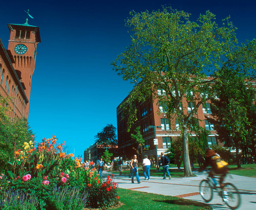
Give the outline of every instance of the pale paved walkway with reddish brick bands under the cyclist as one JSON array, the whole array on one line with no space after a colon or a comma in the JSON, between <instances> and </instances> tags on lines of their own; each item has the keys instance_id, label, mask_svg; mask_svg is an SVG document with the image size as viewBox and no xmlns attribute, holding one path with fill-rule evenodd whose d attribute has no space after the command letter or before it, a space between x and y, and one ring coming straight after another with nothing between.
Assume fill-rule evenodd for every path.
<instances>
[{"instance_id":1,"label":"pale paved walkway with reddish brick bands under the cyclist","mask_svg":"<svg viewBox=\"0 0 256 210\"><path fill-rule=\"evenodd\" d=\"M204 202L199 194L199 182L207 176L206 172L193 172L196 177L186 178L171 178L151 176L150 180L145 180L145 177L140 177L142 183L138 184L134 177L134 184L131 184L131 178L127 175L116 175L115 182L119 183L118 187L137 190L142 192L156 193L161 195L170 195L182 197L185 199ZM103 176L110 175L109 171L104 171ZM234 184L241 193L241 204L238 209L256 209L256 178L231 175L227 176L225 181ZM213 193L213 199L209 202L213 209L229 209L222 201L222 198L217 192Z\"/></svg>"}]
</instances>

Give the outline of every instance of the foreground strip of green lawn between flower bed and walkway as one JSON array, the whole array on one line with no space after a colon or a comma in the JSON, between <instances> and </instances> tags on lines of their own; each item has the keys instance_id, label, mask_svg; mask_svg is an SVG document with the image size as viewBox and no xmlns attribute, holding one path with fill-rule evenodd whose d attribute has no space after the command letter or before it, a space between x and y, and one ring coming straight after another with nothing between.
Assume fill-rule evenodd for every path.
<instances>
[{"instance_id":1,"label":"foreground strip of green lawn between flower bed and walkway","mask_svg":"<svg viewBox=\"0 0 256 210\"><path fill-rule=\"evenodd\" d=\"M202 209L210 210L212 209L205 203L200 203L197 201L186 200L182 198L158 195L147 192L139 192L128 189L118 189L119 201L123 203L118 210L155 210L155 209Z\"/></svg>"}]
</instances>

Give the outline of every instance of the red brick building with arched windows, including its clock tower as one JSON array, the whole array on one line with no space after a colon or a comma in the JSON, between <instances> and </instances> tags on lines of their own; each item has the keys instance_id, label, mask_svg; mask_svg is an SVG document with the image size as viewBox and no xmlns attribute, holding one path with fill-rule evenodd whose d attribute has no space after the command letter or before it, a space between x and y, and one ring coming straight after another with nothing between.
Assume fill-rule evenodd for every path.
<instances>
[{"instance_id":1,"label":"red brick building with arched windows, including its clock tower","mask_svg":"<svg viewBox=\"0 0 256 210\"><path fill-rule=\"evenodd\" d=\"M24 24L7 24L10 40L6 50L0 40L0 94L10 99L14 118L28 118L32 76L35 70L39 28Z\"/></svg>"}]
</instances>

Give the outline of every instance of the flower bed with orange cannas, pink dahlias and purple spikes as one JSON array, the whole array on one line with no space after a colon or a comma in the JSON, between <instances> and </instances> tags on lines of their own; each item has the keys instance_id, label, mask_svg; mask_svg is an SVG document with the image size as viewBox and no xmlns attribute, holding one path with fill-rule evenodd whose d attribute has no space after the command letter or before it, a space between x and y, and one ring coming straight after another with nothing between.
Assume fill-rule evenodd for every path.
<instances>
[{"instance_id":1,"label":"flower bed with orange cannas, pink dahlias and purple spikes","mask_svg":"<svg viewBox=\"0 0 256 210\"><path fill-rule=\"evenodd\" d=\"M0 176L1 209L106 209L118 203L114 175L100 179L97 170L62 152L55 136L24 142L16 148L10 170ZM19 202L17 202L17 197ZM16 200L15 200L16 199Z\"/></svg>"}]
</instances>

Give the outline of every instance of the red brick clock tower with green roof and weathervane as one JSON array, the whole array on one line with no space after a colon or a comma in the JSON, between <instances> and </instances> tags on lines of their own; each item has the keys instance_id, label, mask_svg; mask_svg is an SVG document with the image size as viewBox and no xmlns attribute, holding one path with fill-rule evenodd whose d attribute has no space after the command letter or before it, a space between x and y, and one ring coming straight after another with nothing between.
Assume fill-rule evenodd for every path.
<instances>
[{"instance_id":1,"label":"red brick clock tower with green roof and weathervane","mask_svg":"<svg viewBox=\"0 0 256 210\"><path fill-rule=\"evenodd\" d=\"M41 42L39 27L24 24L7 24L10 30L8 50L13 55L13 67L19 77L24 92L30 100L32 76L35 70L37 44ZM29 102L26 104L25 117L28 118Z\"/></svg>"}]
</instances>

